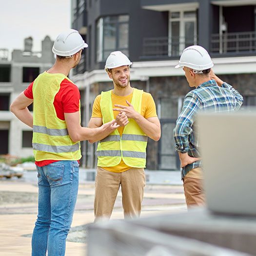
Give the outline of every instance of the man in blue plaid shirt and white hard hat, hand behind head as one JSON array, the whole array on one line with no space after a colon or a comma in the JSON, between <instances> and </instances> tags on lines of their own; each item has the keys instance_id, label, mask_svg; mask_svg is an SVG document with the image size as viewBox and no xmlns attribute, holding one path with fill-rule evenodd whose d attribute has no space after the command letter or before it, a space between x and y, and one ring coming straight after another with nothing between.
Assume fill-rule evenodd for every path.
<instances>
[{"instance_id":1,"label":"man in blue plaid shirt and white hard hat, hand behind head","mask_svg":"<svg viewBox=\"0 0 256 256\"><path fill-rule=\"evenodd\" d=\"M213 61L201 46L187 47L176 66L183 67L190 87L182 111L174 128L175 147L180 159L186 204L202 205L205 202L202 188L202 168L197 134L198 112L231 112L240 108L243 97L212 71Z\"/></svg>"}]
</instances>

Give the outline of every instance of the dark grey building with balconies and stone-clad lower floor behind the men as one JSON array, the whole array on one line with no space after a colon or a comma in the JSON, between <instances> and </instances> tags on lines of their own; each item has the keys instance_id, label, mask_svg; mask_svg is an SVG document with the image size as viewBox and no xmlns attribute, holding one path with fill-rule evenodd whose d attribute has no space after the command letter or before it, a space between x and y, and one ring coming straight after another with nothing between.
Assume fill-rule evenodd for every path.
<instances>
[{"instance_id":1,"label":"dark grey building with balconies and stone-clad lower floor behind the men","mask_svg":"<svg viewBox=\"0 0 256 256\"><path fill-rule=\"evenodd\" d=\"M104 71L110 52L133 62L131 85L155 99L162 136L149 140L147 168L179 169L173 128L190 88L175 69L182 50L206 48L214 71L256 105L256 0L72 0L72 26L89 47L72 79L81 92L82 124L101 91L113 87ZM96 144L82 143L82 164L94 167Z\"/></svg>"}]
</instances>

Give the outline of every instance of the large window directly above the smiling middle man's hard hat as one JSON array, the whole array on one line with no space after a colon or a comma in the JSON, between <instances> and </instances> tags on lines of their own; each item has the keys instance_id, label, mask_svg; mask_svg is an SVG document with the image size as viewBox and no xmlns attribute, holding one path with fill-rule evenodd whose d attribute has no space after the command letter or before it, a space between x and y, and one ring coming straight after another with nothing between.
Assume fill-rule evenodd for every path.
<instances>
[{"instance_id":1,"label":"large window directly above the smiling middle man's hard hat","mask_svg":"<svg viewBox=\"0 0 256 256\"><path fill-rule=\"evenodd\" d=\"M97 21L97 61L105 61L113 51L129 55L129 16L109 16Z\"/></svg>"}]
</instances>

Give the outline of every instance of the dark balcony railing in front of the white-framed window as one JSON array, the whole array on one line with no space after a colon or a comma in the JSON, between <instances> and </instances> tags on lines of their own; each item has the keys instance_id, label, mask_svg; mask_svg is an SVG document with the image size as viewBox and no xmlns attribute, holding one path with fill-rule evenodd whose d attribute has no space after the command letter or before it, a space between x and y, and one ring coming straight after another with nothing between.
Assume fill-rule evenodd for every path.
<instances>
[{"instance_id":1,"label":"dark balcony railing in front of the white-framed window","mask_svg":"<svg viewBox=\"0 0 256 256\"><path fill-rule=\"evenodd\" d=\"M180 56L184 48L197 44L197 37L144 38L142 58L156 59Z\"/></svg>"}]
</instances>

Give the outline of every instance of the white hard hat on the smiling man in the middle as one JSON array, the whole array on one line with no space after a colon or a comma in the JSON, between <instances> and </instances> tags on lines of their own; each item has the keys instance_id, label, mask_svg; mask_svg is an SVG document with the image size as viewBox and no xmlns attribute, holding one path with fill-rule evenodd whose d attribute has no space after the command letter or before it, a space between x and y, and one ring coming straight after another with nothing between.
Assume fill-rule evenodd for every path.
<instances>
[{"instance_id":1,"label":"white hard hat on the smiling man in the middle","mask_svg":"<svg viewBox=\"0 0 256 256\"><path fill-rule=\"evenodd\" d=\"M106 60L105 70L107 71L109 68L117 68L125 65L130 66L132 64L133 62L131 62L125 54L120 51L116 51L112 52Z\"/></svg>"}]
</instances>

